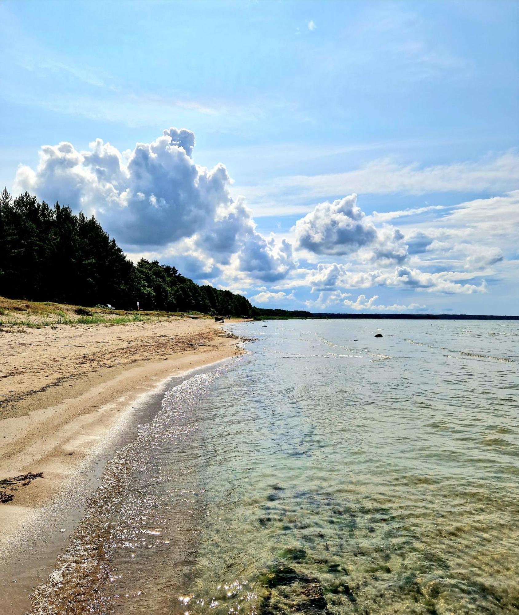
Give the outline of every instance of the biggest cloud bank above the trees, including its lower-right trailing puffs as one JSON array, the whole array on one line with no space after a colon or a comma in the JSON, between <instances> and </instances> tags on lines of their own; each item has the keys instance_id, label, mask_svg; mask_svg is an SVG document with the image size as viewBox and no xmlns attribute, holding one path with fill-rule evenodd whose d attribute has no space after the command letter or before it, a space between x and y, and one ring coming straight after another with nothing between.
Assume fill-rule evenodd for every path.
<instances>
[{"instance_id":1,"label":"biggest cloud bank above the trees, including its lower-right trailing puffs","mask_svg":"<svg viewBox=\"0 0 519 615\"><path fill-rule=\"evenodd\" d=\"M208 273L234 255L252 277L286 276L295 268L290 243L256 231L245 200L229 194L224 165L195 164L194 145L190 130L170 128L124 156L101 139L87 152L66 142L44 146L36 170L18 169L15 188L95 214L132 253L180 256L192 271Z\"/></svg>"}]
</instances>

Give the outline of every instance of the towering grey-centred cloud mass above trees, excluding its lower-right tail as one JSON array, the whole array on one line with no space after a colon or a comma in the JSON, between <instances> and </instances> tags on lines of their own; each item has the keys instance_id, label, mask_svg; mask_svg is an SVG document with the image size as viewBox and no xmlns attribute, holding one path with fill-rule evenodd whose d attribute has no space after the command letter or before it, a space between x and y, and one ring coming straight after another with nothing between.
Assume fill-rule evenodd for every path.
<instances>
[{"instance_id":1,"label":"towering grey-centred cloud mass above trees, excluding its lower-right tail","mask_svg":"<svg viewBox=\"0 0 519 615\"><path fill-rule=\"evenodd\" d=\"M194 134L164 130L151 143L137 143L127 164L119 151L97 139L90 152L71 143L41 148L38 169L18 169L15 185L42 199L95 213L125 244L166 245L210 224L229 205L229 175L191 158Z\"/></svg>"}]
</instances>

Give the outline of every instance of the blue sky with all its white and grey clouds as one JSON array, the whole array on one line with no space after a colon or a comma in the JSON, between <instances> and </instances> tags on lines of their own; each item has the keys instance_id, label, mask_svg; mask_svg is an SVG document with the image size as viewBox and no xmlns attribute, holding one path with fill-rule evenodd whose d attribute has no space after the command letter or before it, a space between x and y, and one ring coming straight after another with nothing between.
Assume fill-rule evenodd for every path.
<instances>
[{"instance_id":1,"label":"blue sky with all its white and grey clouds","mask_svg":"<svg viewBox=\"0 0 519 615\"><path fill-rule=\"evenodd\" d=\"M519 314L519 2L2 0L0 183L264 308Z\"/></svg>"}]
</instances>

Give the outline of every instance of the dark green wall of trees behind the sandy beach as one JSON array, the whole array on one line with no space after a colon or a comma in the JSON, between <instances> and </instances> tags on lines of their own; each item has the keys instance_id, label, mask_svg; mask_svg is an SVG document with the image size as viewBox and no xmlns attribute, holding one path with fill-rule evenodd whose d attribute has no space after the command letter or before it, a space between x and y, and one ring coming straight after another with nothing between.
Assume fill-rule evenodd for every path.
<instances>
[{"instance_id":1,"label":"dark green wall of trees behind the sandy beach","mask_svg":"<svg viewBox=\"0 0 519 615\"><path fill-rule=\"evenodd\" d=\"M0 196L0 295L120 309L198 311L248 316L242 295L199 286L175 267L140 260L135 266L95 218L68 206L49 207L25 192Z\"/></svg>"}]
</instances>

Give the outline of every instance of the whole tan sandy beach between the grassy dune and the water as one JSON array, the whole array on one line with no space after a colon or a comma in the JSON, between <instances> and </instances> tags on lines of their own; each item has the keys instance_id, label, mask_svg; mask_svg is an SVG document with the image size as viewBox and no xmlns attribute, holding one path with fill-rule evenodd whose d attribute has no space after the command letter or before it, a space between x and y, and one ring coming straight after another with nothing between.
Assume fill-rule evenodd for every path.
<instances>
[{"instance_id":1,"label":"whole tan sandy beach between the grassy dune and the water","mask_svg":"<svg viewBox=\"0 0 519 615\"><path fill-rule=\"evenodd\" d=\"M138 422L137 400L167 378L240 349L220 323L173 318L4 328L0 346L0 583L16 595L27 587L10 585L9 562L27 555L28 528L41 523L38 515L63 498L127 416L137 413ZM72 498L74 507L82 497ZM16 605L4 603L0 613L23 612Z\"/></svg>"}]
</instances>

